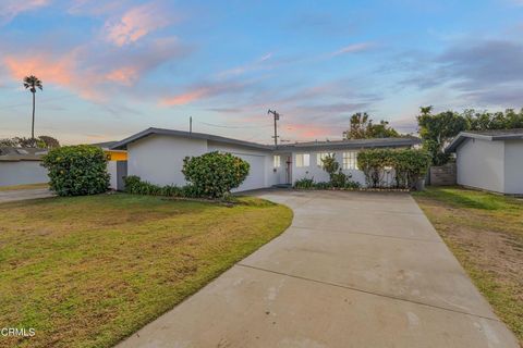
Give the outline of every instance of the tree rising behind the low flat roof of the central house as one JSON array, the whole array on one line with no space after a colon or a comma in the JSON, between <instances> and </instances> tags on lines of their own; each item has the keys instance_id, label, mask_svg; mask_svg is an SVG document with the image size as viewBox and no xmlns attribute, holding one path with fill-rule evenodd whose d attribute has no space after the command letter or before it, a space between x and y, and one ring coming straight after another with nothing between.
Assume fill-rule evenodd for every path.
<instances>
[{"instance_id":1,"label":"tree rising behind the low flat roof of the central house","mask_svg":"<svg viewBox=\"0 0 523 348\"><path fill-rule=\"evenodd\" d=\"M378 124L373 124L373 120L366 112L353 114L350 122L349 130L343 133L348 139L400 137L400 134L390 127L387 121L381 120Z\"/></svg>"}]
</instances>

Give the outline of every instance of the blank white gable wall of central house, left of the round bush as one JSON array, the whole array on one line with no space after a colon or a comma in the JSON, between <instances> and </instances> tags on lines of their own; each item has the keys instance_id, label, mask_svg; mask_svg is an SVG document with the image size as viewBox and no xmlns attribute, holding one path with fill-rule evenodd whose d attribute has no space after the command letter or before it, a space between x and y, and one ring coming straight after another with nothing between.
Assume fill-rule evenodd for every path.
<instances>
[{"instance_id":1,"label":"blank white gable wall of central house, left of the round bush","mask_svg":"<svg viewBox=\"0 0 523 348\"><path fill-rule=\"evenodd\" d=\"M182 174L186 156L207 152L207 140L151 135L127 145L127 175L156 185L185 185Z\"/></svg>"}]
</instances>

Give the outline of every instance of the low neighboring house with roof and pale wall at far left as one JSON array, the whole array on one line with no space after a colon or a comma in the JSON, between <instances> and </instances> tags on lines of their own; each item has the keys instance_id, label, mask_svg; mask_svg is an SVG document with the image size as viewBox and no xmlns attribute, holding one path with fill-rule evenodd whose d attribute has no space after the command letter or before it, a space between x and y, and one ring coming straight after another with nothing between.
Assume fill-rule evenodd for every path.
<instances>
[{"instance_id":1,"label":"low neighboring house with roof and pale wall at far left","mask_svg":"<svg viewBox=\"0 0 523 348\"><path fill-rule=\"evenodd\" d=\"M0 148L0 186L47 183L47 170L40 165L46 149Z\"/></svg>"}]
</instances>

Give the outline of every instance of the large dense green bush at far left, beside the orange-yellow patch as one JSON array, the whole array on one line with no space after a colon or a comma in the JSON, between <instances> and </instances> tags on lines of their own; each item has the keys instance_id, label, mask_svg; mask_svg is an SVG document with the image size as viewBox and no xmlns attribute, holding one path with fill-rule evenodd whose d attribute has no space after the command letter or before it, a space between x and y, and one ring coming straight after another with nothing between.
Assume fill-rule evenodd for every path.
<instances>
[{"instance_id":1,"label":"large dense green bush at far left, beside the orange-yellow patch","mask_svg":"<svg viewBox=\"0 0 523 348\"><path fill-rule=\"evenodd\" d=\"M109 188L107 157L94 146L78 145L54 148L44 157L49 187L59 196L84 196L105 192Z\"/></svg>"}]
</instances>

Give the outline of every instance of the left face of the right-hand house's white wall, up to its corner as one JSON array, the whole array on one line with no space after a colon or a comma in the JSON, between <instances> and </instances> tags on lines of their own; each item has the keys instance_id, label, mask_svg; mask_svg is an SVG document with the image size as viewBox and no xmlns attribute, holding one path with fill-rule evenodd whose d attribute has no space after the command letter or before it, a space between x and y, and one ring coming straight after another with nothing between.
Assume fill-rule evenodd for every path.
<instances>
[{"instance_id":1,"label":"left face of the right-hand house's white wall, up to its corner","mask_svg":"<svg viewBox=\"0 0 523 348\"><path fill-rule=\"evenodd\" d=\"M466 139L457 149L458 184L504 192L504 142Z\"/></svg>"}]
</instances>

